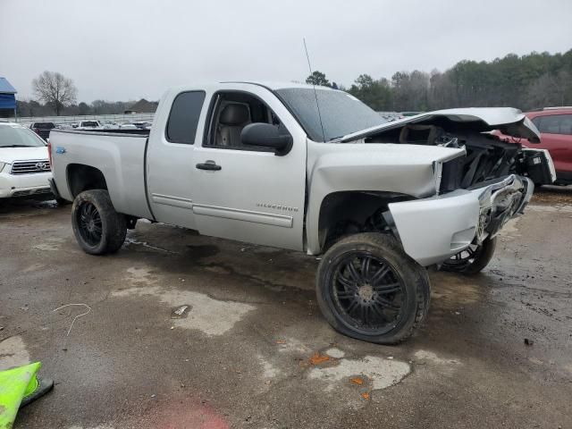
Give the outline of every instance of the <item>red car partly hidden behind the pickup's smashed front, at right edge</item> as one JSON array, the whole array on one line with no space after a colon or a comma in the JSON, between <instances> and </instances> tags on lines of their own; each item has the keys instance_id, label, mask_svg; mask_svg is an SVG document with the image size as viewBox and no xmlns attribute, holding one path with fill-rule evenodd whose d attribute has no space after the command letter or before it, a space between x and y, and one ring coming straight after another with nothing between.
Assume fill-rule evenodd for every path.
<instances>
[{"instance_id":1,"label":"red car partly hidden behind the pickup's smashed front, at right edge","mask_svg":"<svg viewBox=\"0 0 572 429\"><path fill-rule=\"evenodd\" d=\"M526 139L500 136L508 141L520 140L525 147L548 149L556 169L557 185L572 184L572 107L545 107L528 112L526 116L541 133L539 144L530 144Z\"/></svg>"}]
</instances>

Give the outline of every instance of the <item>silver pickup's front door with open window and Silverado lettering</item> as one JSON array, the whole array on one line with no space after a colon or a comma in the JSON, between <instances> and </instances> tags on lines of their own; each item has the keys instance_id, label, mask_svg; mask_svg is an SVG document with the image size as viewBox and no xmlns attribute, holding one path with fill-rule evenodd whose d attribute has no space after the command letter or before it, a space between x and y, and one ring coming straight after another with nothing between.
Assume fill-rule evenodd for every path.
<instances>
[{"instance_id":1,"label":"silver pickup's front door with open window and Silverado lettering","mask_svg":"<svg viewBox=\"0 0 572 429\"><path fill-rule=\"evenodd\" d=\"M264 100L264 101L263 101ZM240 131L266 122L293 138L290 152L248 147ZM302 250L306 134L265 88L214 93L205 139L196 145L193 212L201 234Z\"/></svg>"}]
</instances>

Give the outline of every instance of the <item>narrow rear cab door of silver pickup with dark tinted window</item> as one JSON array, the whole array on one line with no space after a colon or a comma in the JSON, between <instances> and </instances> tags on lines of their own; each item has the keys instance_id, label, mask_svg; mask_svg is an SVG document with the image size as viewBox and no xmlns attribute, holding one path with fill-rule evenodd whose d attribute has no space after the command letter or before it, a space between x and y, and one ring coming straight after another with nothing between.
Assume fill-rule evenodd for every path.
<instances>
[{"instance_id":1,"label":"narrow rear cab door of silver pickup with dark tinted window","mask_svg":"<svg viewBox=\"0 0 572 429\"><path fill-rule=\"evenodd\" d=\"M193 151L195 139L200 142L202 137L197 129L205 97L205 91L167 96L161 104L171 108L166 125L151 129L146 157L147 198L158 222L197 229L192 209L198 189Z\"/></svg>"}]
</instances>

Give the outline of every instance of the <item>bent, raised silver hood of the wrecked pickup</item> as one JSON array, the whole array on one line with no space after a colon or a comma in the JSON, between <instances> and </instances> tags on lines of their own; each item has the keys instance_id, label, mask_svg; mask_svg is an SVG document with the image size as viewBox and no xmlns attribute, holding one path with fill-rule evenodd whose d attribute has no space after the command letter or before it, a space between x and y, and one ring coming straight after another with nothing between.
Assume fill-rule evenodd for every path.
<instances>
[{"instance_id":1,"label":"bent, raised silver hood of the wrecked pickup","mask_svg":"<svg viewBox=\"0 0 572 429\"><path fill-rule=\"evenodd\" d=\"M475 132L501 130L503 134L540 143L540 131L536 129L534 123L520 110L512 107L468 107L437 110L410 116L399 121L386 122L367 130L360 130L344 136L340 141L366 139L384 130L400 128L408 123L431 124L442 119L455 122L456 127L461 130Z\"/></svg>"}]
</instances>

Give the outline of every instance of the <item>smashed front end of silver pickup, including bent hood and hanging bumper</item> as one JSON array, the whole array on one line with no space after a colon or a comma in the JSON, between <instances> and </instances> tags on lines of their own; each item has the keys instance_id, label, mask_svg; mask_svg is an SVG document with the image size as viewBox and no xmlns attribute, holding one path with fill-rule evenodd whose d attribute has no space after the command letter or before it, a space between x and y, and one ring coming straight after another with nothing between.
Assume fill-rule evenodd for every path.
<instances>
[{"instance_id":1,"label":"smashed front end of silver pickup, including bent hood and hanging bumper","mask_svg":"<svg viewBox=\"0 0 572 429\"><path fill-rule=\"evenodd\" d=\"M464 149L433 164L433 197L388 206L392 231L419 264L440 264L494 237L523 213L534 184L554 180L546 151L500 141L495 129L539 141L534 124L507 108L433 112L352 136L366 144Z\"/></svg>"}]
</instances>

